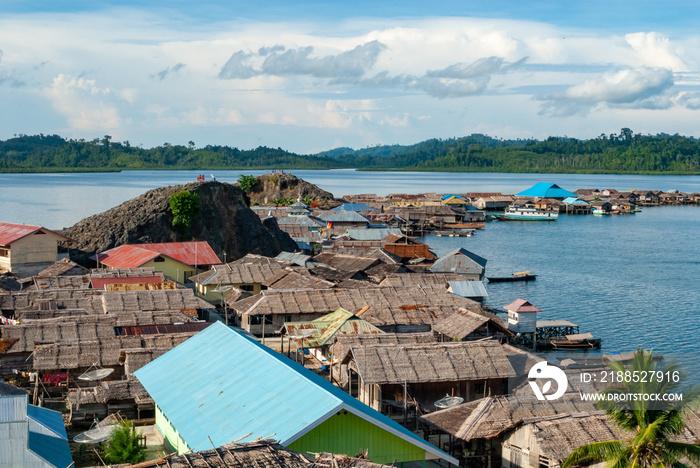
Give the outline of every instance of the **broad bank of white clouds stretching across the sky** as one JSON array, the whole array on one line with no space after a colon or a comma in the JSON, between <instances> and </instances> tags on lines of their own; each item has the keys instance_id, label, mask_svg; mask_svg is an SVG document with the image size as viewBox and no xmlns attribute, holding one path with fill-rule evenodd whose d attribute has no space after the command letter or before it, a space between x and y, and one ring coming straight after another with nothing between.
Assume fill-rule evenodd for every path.
<instances>
[{"instance_id":1,"label":"broad bank of white clouds stretching across the sky","mask_svg":"<svg viewBox=\"0 0 700 468\"><path fill-rule=\"evenodd\" d=\"M693 120L700 33L666 34L461 17L195 24L138 10L15 15L0 18L0 100L32 102L9 113L25 121L53 108L75 134L121 128L146 145L185 133L231 143L282 126L290 148L478 128L576 136L628 126L631 109L644 110L648 128L674 112ZM8 122L0 116L0 128Z\"/></svg>"}]
</instances>

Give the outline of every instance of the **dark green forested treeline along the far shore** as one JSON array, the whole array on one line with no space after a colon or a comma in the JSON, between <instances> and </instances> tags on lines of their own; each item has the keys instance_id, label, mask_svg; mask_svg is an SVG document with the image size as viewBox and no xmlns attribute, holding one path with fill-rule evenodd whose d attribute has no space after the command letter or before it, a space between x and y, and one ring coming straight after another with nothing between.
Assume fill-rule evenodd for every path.
<instances>
[{"instance_id":1,"label":"dark green forested treeline along the far shore","mask_svg":"<svg viewBox=\"0 0 700 468\"><path fill-rule=\"evenodd\" d=\"M619 134L579 140L550 137L500 140L474 134L410 146L337 148L315 155L261 146L196 148L165 143L144 149L128 141L66 140L20 135L0 142L0 171L121 169L334 169L369 170L700 174L700 140L681 135Z\"/></svg>"}]
</instances>

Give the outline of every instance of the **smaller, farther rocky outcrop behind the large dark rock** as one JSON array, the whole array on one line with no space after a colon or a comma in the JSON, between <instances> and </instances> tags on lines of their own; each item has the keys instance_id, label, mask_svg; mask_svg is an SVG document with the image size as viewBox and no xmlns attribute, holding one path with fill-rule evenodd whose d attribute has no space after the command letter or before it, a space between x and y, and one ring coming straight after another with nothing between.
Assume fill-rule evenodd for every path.
<instances>
[{"instance_id":1,"label":"smaller, farther rocky outcrop behind the large dark rock","mask_svg":"<svg viewBox=\"0 0 700 468\"><path fill-rule=\"evenodd\" d=\"M342 204L342 201L336 200L332 193L326 192L292 174L274 172L258 176L257 179L258 183L247 193L251 203L268 205L275 199L297 200L298 198L304 199L306 197L311 201L317 202L318 208L324 210L335 208Z\"/></svg>"}]
</instances>

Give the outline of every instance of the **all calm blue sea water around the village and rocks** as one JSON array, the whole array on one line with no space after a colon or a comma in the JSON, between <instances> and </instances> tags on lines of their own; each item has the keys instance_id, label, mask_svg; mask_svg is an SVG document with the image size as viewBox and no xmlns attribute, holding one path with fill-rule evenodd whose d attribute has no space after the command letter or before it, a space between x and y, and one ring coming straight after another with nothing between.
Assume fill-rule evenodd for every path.
<instances>
[{"instance_id":1,"label":"all calm blue sea water around the village and rocks","mask_svg":"<svg viewBox=\"0 0 700 468\"><path fill-rule=\"evenodd\" d=\"M224 171L218 180L235 182ZM196 171L0 174L0 220L71 226ZM568 190L615 188L700 192L699 176L293 171L336 196L359 193L517 193L536 182ZM210 174L205 174L209 178ZM554 223L489 223L471 238L428 236L438 254L465 247L488 259L487 274L531 270L529 283L487 286L500 308L521 297L544 319L565 319L603 338L603 352L653 348L673 355L700 383L700 207L646 208L630 216L560 216Z\"/></svg>"}]
</instances>

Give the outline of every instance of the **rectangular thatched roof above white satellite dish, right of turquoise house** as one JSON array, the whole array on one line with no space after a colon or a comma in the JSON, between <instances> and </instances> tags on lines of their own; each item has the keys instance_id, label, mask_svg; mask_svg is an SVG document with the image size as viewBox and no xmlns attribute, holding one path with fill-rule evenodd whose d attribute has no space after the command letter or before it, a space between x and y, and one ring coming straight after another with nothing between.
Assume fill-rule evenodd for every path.
<instances>
[{"instance_id":1,"label":"rectangular thatched roof above white satellite dish, right of turquoise house","mask_svg":"<svg viewBox=\"0 0 700 468\"><path fill-rule=\"evenodd\" d=\"M503 347L495 341L358 346L352 354L366 384L515 377Z\"/></svg>"}]
</instances>

